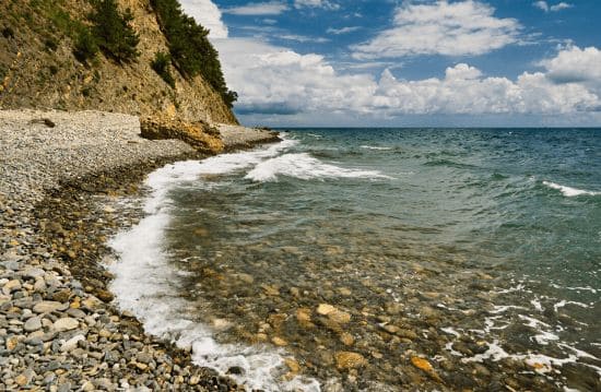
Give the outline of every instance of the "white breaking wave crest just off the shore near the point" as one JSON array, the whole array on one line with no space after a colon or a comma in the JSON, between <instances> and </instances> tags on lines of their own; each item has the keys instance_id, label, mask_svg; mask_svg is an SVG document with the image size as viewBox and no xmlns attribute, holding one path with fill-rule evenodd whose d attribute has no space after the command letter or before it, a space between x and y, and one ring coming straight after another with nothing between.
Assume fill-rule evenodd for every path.
<instances>
[{"instance_id":1,"label":"white breaking wave crest just off the shore near the point","mask_svg":"<svg viewBox=\"0 0 601 392\"><path fill-rule=\"evenodd\" d=\"M390 178L378 170L347 169L322 163L307 153L284 154L259 163L245 178L254 181L274 181L278 176L299 179L323 178Z\"/></svg>"}]
</instances>

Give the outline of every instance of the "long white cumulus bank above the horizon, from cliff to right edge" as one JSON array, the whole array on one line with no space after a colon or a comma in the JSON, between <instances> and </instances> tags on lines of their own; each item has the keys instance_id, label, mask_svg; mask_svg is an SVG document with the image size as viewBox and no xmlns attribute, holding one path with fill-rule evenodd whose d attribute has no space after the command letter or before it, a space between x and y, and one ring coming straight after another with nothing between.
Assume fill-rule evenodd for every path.
<instances>
[{"instance_id":1,"label":"long white cumulus bank above the horizon, from cliff to right edge","mask_svg":"<svg viewBox=\"0 0 601 392\"><path fill-rule=\"evenodd\" d=\"M388 69L338 72L322 56L300 55L252 39L219 40L224 72L239 93L240 114L333 112L381 118L404 115L559 115L601 110L596 48L562 49L544 71L516 80L486 76L467 63L447 68L443 78L399 80ZM563 70L579 78L559 82ZM562 78L559 78L562 79Z\"/></svg>"}]
</instances>

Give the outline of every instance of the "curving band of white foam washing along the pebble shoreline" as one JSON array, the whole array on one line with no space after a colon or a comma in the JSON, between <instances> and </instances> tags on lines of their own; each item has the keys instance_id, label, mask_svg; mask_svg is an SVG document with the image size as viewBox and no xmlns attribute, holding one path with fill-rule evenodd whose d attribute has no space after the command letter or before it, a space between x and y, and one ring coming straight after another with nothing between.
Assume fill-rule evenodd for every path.
<instances>
[{"instance_id":1,"label":"curving band of white foam washing along the pebble shoreline","mask_svg":"<svg viewBox=\"0 0 601 392\"><path fill-rule=\"evenodd\" d=\"M202 175L225 175L246 169L262 159L276 156L295 141L287 140L269 149L224 154L202 162L167 165L146 180L151 194L144 205L150 215L133 228L118 234L109 246L119 261L108 265L116 275L110 285L119 307L135 314L146 332L168 338L180 347L191 347L196 364L225 373L231 367L244 369L232 377L249 390L320 391L317 380L296 377L282 381L285 372L283 351L264 346L219 344L213 329L199 322L193 304L180 298L180 274L167 260L164 230L169 223L169 191L175 186L196 182Z\"/></svg>"}]
</instances>

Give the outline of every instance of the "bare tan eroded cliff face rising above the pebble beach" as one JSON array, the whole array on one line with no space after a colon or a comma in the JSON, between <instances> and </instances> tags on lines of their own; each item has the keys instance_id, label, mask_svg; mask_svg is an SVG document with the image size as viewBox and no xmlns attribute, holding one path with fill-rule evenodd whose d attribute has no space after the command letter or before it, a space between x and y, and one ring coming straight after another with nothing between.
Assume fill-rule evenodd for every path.
<instances>
[{"instance_id":1,"label":"bare tan eroded cliff face rising above the pebble beach","mask_svg":"<svg viewBox=\"0 0 601 392\"><path fill-rule=\"evenodd\" d=\"M119 64L101 52L86 66L73 55L73 29L89 23L87 0L0 1L0 108L96 109L237 123L200 75L185 80L172 66L172 88L151 68L155 54L168 48L150 0L118 4L133 14L140 57Z\"/></svg>"}]
</instances>

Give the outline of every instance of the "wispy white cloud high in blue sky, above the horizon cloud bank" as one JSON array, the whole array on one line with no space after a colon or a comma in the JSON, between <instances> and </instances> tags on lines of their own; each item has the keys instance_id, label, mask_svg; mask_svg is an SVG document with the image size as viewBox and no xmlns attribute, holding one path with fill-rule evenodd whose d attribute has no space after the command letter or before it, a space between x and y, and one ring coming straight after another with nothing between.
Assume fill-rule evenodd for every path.
<instances>
[{"instance_id":1,"label":"wispy white cloud high in blue sky, above the horizon cloud bank","mask_svg":"<svg viewBox=\"0 0 601 392\"><path fill-rule=\"evenodd\" d=\"M393 26L353 47L356 59L408 55L483 55L518 41L520 24L495 17L478 1L408 2L396 10Z\"/></svg>"}]
</instances>

